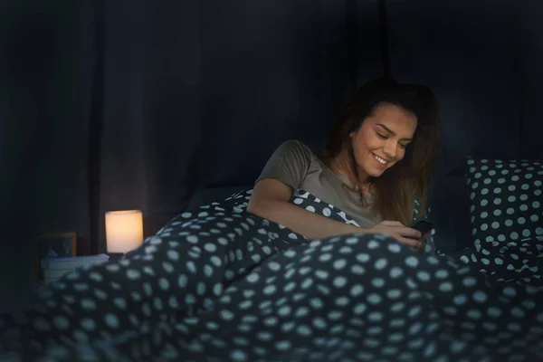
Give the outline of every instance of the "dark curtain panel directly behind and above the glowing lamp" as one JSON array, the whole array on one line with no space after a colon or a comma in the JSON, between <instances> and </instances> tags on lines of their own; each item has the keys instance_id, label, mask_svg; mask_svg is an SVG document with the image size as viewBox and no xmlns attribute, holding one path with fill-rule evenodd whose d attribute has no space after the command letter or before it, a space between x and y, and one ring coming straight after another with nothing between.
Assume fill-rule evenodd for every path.
<instances>
[{"instance_id":1,"label":"dark curtain panel directly behind and above the glowing lamp","mask_svg":"<svg viewBox=\"0 0 543 362\"><path fill-rule=\"evenodd\" d=\"M92 252L103 214L140 209L146 234L183 210L199 164L198 1L105 2L103 113Z\"/></svg>"}]
</instances>

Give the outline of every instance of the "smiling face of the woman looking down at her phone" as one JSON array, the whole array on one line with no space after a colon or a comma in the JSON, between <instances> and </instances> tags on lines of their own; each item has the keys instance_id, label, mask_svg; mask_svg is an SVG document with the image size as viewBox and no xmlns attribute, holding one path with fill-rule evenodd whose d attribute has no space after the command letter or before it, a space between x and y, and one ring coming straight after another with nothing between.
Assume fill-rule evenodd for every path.
<instances>
[{"instance_id":1,"label":"smiling face of the woman looking down at her phone","mask_svg":"<svg viewBox=\"0 0 543 362\"><path fill-rule=\"evenodd\" d=\"M373 114L350 134L360 182L381 176L404 158L416 129L416 116L392 104L376 106Z\"/></svg>"}]
</instances>

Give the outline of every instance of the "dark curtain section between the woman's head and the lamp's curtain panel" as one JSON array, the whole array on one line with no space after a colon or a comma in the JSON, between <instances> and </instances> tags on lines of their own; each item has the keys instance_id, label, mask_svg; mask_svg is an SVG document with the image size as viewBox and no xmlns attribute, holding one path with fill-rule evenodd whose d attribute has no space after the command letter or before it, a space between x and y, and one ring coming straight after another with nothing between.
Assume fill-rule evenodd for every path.
<instances>
[{"instance_id":1,"label":"dark curtain section between the woman's head and the lamp's curtain panel","mask_svg":"<svg viewBox=\"0 0 543 362\"><path fill-rule=\"evenodd\" d=\"M203 177L252 185L273 148L324 145L350 86L348 1L205 1L201 16Z\"/></svg>"}]
</instances>

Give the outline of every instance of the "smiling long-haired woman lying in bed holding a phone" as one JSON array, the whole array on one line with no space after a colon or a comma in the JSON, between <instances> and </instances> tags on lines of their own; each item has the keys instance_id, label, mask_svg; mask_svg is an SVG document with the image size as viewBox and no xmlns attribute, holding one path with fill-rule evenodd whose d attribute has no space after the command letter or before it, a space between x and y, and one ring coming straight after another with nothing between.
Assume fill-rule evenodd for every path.
<instances>
[{"instance_id":1,"label":"smiling long-haired woman lying in bed holding a phone","mask_svg":"<svg viewBox=\"0 0 543 362\"><path fill-rule=\"evenodd\" d=\"M298 141L278 148L257 179L248 211L309 239L383 233L420 246L405 227L416 197L426 207L433 153L441 137L438 102L420 85L377 79L340 110L322 157ZM289 201L302 188L335 205L360 227L311 213Z\"/></svg>"}]
</instances>

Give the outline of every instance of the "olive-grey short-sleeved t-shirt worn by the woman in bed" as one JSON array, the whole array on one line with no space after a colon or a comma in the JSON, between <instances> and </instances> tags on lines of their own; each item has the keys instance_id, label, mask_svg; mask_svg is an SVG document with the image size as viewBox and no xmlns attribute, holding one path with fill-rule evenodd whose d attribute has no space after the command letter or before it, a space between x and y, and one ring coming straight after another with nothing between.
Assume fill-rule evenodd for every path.
<instances>
[{"instance_id":1,"label":"olive-grey short-sleeved t-shirt worn by the woman in bed","mask_svg":"<svg viewBox=\"0 0 543 362\"><path fill-rule=\"evenodd\" d=\"M340 208L360 227L368 228L381 222L379 215L370 209L371 197L365 196L366 203L362 205L360 194L352 190L348 177L334 173L300 141L282 143L271 155L255 185L263 178L279 180L293 190L303 189L319 197Z\"/></svg>"}]
</instances>

